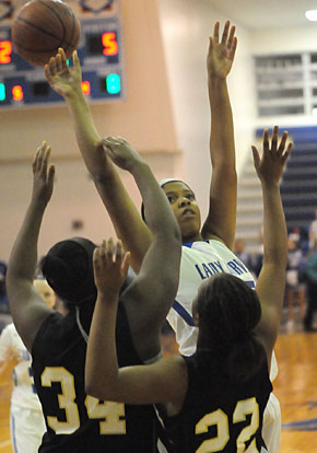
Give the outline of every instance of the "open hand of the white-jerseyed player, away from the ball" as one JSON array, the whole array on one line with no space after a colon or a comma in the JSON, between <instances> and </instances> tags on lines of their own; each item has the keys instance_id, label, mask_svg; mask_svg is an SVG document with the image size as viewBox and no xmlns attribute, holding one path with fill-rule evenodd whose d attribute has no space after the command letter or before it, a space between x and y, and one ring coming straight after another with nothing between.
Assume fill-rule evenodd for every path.
<instances>
[{"instance_id":1,"label":"open hand of the white-jerseyed player, away from the ball","mask_svg":"<svg viewBox=\"0 0 317 453\"><path fill-rule=\"evenodd\" d=\"M221 42L219 42L219 27L220 23L216 22L213 36L209 37L207 69L210 77L225 79L233 65L237 38L234 36L235 26L230 28L230 21L226 21Z\"/></svg>"}]
</instances>

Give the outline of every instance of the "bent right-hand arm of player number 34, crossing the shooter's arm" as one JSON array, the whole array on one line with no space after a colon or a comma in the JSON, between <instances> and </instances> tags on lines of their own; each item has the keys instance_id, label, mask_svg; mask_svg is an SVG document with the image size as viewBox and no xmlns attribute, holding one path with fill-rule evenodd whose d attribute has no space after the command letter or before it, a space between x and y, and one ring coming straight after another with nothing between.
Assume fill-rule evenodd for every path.
<instances>
[{"instance_id":1,"label":"bent right-hand arm of player number 34, crossing the shooter's arm","mask_svg":"<svg viewBox=\"0 0 317 453\"><path fill-rule=\"evenodd\" d=\"M161 349L160 332L178 287L180 231L171 205L149 165L122 138L105 139L107 155L128 170L140 190L152 242L140 274L125 293L132 335L142 359ZM149 358L149 357L146 357Z\"/></svg>"}]
</instances>

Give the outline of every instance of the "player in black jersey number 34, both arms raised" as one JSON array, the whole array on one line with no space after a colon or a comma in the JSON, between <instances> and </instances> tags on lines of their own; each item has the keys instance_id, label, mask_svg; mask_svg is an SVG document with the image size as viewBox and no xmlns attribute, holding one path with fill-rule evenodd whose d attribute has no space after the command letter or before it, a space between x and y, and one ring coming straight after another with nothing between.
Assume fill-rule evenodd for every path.
<instances>
[{"instance_id":1,"label":"player in black jersey number 34, both arms raised","mask_svg":"<svg viewBox=\"0 0 317 453\"><path fill-rule=\"evenodd\" d=\"M124 151L129 151L127 156L120 152L122 143ZM114 156L111 150L117 149ZM97 294L92 260L96 245L83 237L61 241L42 260L49 284L67 302L66 316L48 309L33 286L40 224L54 187L55 169L48 165L49 154L50 148L44 142L33 164L32 199L7 276L13 322L32 352L35 385L46 419L47 432L39 452L156 452L153 406L109 403L85 394L86 341ZM180 232L148 164L122 139L113 139L108 154L134 177L153 232L153 244L140 274L130 279L126 277L128 259L124 266L116 347L119 364L127 367L160 358L161 327L178 284ZM102 357L104 351L98 355Z\"/></svg>"}]
</instances>

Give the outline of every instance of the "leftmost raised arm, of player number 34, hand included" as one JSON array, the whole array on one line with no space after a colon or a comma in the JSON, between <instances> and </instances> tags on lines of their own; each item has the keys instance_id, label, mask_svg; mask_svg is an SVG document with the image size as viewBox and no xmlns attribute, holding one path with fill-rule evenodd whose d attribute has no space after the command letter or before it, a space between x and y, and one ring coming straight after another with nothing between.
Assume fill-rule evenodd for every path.
<instances>
[{"instance_id":1,"label":"leftmost raised arm, of player number 34, hand included","mask_svg":"<svg viewBox=\"0 0 317 453\"><path fill-rule=\"evenodd\" d=\"M11 252L5 280L13 323L30 351L40 324L52 312L33 286L39 229L54 186L55 167L48 166L49 155L50 147L44 142L33 162L32 198Z\"/></svg>"}]
</instances>

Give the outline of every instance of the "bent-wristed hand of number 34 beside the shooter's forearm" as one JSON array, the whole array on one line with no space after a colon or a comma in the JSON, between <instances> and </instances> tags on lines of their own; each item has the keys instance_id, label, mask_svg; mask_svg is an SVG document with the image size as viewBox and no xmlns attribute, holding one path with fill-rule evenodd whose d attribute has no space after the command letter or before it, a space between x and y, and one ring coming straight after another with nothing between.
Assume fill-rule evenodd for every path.
<instances>
[{"instance_id":1,"label":"bent-wristed hand of number 34 beside the shooter's forearm","mask_svg":"<svg viewBox=\"0 0 317 453\"><path fill-rule=\"evenodd\" d=\"M136 162L142 162L138 152L122 137L106 137L102 139L106 155L120 169L131 171Z\"/></svg>"}]
</instances>

